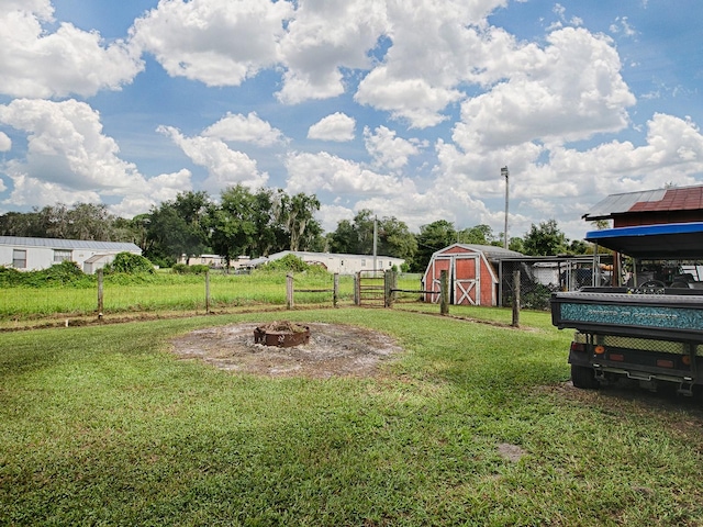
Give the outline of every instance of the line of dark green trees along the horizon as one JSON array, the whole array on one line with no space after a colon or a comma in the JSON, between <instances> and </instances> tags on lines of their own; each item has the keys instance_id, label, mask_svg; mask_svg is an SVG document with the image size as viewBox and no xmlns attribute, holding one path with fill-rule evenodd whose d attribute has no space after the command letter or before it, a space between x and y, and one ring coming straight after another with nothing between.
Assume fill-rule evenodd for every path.
<instances>
[{"instance_id":1,"label":"line of dark green trees along the horizon","mask_svg":"<svg viewBox=\"0 0 703 527\"><path fill-rule=\"evenodd\" d=\"M227 266L241 256L257 258L281 250L371 255L376 233L379 256L406 261L405 270L422 272L432 255L454 243L503 246L502 233L488 225L456 229L446 220L412 233L394 216L377 217L364 209L324 233L314 215L314 194L287 194L282 189L253 191L237 184L217 200L203 191L179 193L131 220L110 214L107 205L78 203L35 208L32 212L0 215L0 235L102 242L132 242L155 265L171 267L187 259L216 254ZM510 249L528 256L585 254L582 240L568 240L555 220L533 224L522 237L510 238Z\"/></svg>"}]
</instances>

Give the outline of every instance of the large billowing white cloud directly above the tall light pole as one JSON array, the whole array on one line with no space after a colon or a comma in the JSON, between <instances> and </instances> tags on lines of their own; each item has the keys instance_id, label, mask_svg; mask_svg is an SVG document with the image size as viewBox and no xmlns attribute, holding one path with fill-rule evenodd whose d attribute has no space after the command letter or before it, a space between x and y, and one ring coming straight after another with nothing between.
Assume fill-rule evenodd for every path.
<instances>
[{"instance_id":1,"label":"large billowing white cloud directly above the tall light pole","mask_svg":"<svg viewBox=\"0 0 703 527\"><path fill-rule=\"evenodd\" d=\"M635 98L610 41L571 27L547 41L537 60L464 102L453 137L466 152L536 139L584 139L627 125L626 108Z\"/></svg>"}]
</instances>

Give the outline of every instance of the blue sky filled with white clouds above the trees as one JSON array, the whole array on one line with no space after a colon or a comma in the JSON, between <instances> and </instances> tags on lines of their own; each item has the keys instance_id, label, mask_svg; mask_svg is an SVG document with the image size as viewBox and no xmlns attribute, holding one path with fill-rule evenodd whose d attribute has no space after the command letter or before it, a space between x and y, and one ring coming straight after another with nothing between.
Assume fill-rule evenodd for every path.
<instances>
[{"instance_id":1,"label":"blue sky filled with white clouds above the trees","mask_svg":"<svg viewBox=\"0 0 703 527\"><path fill-rule=\"evenodd\" d=\"M570 239L703 183L700 0L0 0L0 214L315 194Z\"/></svg>"}]
</instances>

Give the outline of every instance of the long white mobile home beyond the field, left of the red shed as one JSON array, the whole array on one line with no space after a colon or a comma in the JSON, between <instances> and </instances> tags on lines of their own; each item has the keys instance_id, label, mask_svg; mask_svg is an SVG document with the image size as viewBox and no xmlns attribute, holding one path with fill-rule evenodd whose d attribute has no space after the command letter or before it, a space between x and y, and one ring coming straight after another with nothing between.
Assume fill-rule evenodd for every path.
<instances>
[{"instance_id":1,"label":"long white mobile home beyond the field, left of the red shed","mask_svg":"<svg viewBox=\"0 0 703 527\"><path fill-rule=\"evenodd\" d=\"M402 258L392 256L371 255L342 255L334 253L309 253L304 250L283 250L276 253L268 258L256 258L249 261L250 267L257 267L269 261L275 261L288 255L293 255L309 265L322 266L330 272L339 274L356 274L359 271L382 270L388 271L395 266L399 270L405 262ZM376 260L376 261L375 261ZM376 264L376 268L373 265Z\"/></svg>"}]
</instances>

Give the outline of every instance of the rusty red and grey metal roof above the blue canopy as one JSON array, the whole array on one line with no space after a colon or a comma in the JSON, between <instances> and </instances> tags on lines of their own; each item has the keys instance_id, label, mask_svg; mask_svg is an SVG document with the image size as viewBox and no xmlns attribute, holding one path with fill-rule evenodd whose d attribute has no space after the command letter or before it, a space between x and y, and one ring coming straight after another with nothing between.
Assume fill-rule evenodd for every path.
<instances>
[{"instance_id":1,"label":"rusty red and grey metal roof above the blue canopy","mask_svg":"<svg viewBox=\"0 0 703 527\"><path fill-rule=\"evenodd\" d=\"M695 210L703 210L703 186L611 194L581 217L594 221L626 213Z\"/></svg>"}]
</instances>

